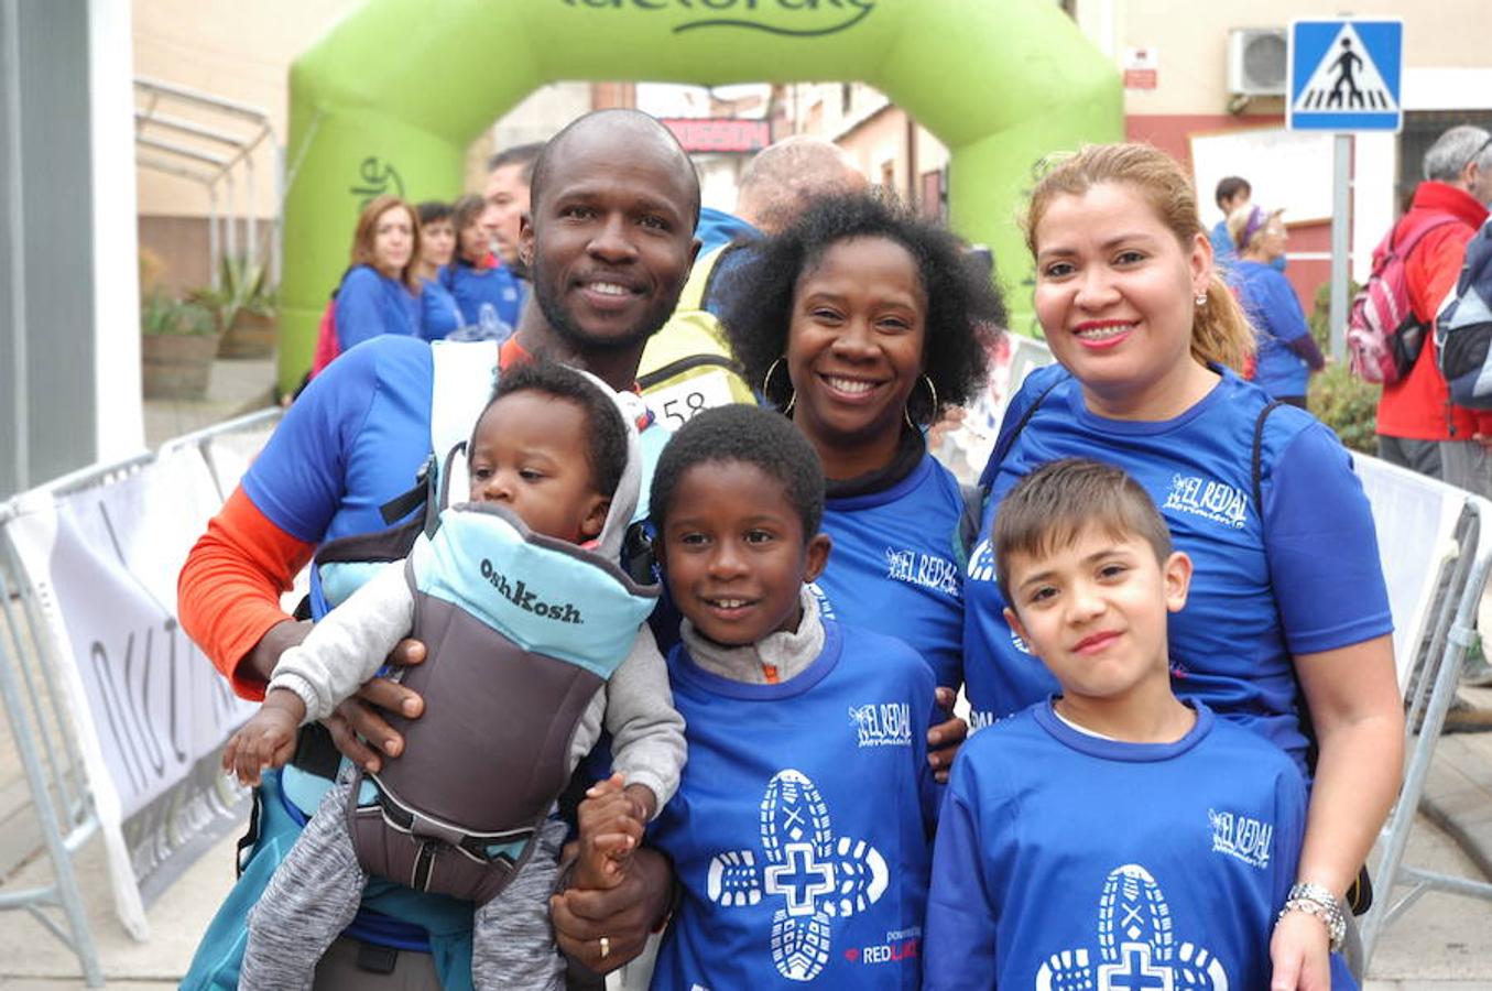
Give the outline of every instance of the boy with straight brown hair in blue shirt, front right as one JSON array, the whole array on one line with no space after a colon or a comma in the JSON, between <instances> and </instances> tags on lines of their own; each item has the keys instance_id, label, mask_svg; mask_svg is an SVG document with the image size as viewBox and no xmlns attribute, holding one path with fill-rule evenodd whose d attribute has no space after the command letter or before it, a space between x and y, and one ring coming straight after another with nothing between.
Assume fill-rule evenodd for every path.
<instances>
[{"instance_id":1,"label":"boy with straight brown hair in blue shirt, front right","mask_svg":"<svg viewBox=\"0 0 1492 991\"><path fill-rule=\"evenodd\" d=\"M1001 503L994 543L1006 618L1061 694L953 764L925 987L1353 988L1328 954L1338 904L1292 887L1295 764L1171 693L1167 616L1192 569L1144 490L1055 461Z\"/></svg>"}]
</instances>

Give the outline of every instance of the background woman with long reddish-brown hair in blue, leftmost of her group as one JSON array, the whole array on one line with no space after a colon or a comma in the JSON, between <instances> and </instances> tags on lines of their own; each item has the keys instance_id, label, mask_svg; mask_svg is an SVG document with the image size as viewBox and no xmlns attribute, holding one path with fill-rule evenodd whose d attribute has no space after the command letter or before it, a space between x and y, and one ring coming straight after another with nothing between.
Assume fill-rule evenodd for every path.
<instances>
[{"instance_id":1,"label":"background woman with long reddish-brown hair in blue, leftmost of her group","mask_svg":"<svg viewBox=\"0 0 1492 991\"><path fill-rule=\"evenodd\" d=\"M340 354L380 334L419 336L419 221L397 196L374 197L358 216L352 267L337 288Z\"/></svg>"}]
</instances>

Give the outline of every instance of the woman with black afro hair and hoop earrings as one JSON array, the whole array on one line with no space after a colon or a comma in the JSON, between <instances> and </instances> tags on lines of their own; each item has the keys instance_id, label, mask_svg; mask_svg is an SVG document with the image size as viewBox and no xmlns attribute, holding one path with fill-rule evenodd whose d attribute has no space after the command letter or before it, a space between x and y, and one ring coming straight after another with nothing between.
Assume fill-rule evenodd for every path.
<instances>
[{"instance_id":1,"label":"woman with black afro hair and hoop earrings","mask_svg":"<svg viewBox=\"0 0 1492 991\"><path fill-rule=\"evenodd\" d=\"M983 385L1004 318L952 234L876 193L821 198L762 242L722 315L747 381L824 461L821 606L918 649L944 707L962 684L964 497L924 430ZM943 778L952 752L931 760Z\"/></svg>"}]
</instances>

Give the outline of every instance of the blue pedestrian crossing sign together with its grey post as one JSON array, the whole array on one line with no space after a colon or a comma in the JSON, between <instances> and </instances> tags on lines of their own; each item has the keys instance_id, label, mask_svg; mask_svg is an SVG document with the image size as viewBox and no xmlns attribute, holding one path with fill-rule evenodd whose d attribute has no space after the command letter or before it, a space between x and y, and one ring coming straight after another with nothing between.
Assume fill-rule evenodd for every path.
<instances>
[{"instance_id":1,"label":"blue pedestrian crossing sign together with its grey post","mask_svg":"<svg viewBox=\"0 0 1492 991\"><path fill-rule=\"evenodd\" d=\"M1331 352L1346 354L1347 212L1352 136L1398 133L1404 127L1404 22L1397 19L1316 19L1291 24L1285 125L1292 131L1334 131L1331 212Z\"/></svg>"}]
</instances>

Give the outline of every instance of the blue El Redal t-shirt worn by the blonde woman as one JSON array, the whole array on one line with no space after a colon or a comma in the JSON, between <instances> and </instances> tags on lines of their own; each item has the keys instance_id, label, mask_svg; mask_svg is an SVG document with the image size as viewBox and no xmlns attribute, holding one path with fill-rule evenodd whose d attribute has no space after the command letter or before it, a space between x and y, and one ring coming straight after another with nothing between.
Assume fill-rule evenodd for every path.
<instances>
[{"instance_id":1,"label":"blue El Redal t-shirt worn by the blonde woman","mask_svg":"<svg viewBox=\"0 0 1492 991\"><path fill-rule=\"evenodd\" d=\"M1377 531L1347 451L1310 413L1276 407L1264 430L1261 516L1250 452L1268 397L1231 370L1174 419L1119 421L1089 412L1077 381L1050 366L1034 372L1012 400L1007 430L1043 393L1004 460L992 458L982 479L989 500L964 584L973 727L1058 688L1001 615L1006 601L989 542L1000 500L1047 461L1088 457L1132 475L1165 516L1176 549L1194 561L1186 607L1168 624L1177 695L1256 730L1304 767L1292 655L1394 628Z\"/></svg>"}]
</instances>

